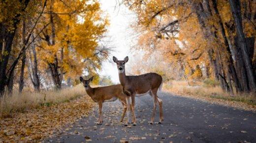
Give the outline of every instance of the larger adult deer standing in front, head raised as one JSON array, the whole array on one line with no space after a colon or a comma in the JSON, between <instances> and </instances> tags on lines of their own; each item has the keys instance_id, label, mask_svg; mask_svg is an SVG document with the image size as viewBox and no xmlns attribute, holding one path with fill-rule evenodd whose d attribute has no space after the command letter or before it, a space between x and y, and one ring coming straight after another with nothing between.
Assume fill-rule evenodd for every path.
<instances>
[{"instance_id":1,"label":"larger adult deer standing in front, head raised","mask_svg":"<svg viewBox=\"0 0 256 143\"><path fill-rule=\"evenodd\" d=\"M156 106L159 103L160 107L160 121L163 121L162 115L162 100L158 97L157 92L161 89L162 77L157 73L146 73L136 76L127 76L125 71L125 64L128 62L128 56L125 57L123 61L119 61L115 56L113 61L117 64L117 69L119 72L119 80L123 86L124 93L131 97L131 112L132 112L132 122L136 125L136 117L134 113L135 96L141 96L150 94L154 100L153 115L151 117L151 124L154 122L154 117L156 114Z\"/></svg>"}]
</instances>

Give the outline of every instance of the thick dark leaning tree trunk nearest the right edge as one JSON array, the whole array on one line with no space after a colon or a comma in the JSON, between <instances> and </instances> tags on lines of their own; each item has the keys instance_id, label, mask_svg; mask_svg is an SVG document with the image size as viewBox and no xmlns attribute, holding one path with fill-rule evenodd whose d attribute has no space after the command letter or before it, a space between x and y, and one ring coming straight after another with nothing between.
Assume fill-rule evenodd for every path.
<instances>
[{"instance_id":1,"label":"thick dark leaning tree trunk nearest the right edge","mask_svg":"<svg viewBox=\"0 0 256 143\"><path fill-rule=\"evenodd\" d=\"M252 68L252 65L250 62L250 56L249 56L250 54L249 54L248 47L246 44L245 35L243 32L240 0L229 0L229 4L230 4L232 15L233 15L235 25L236 25L236 33L237 33L239 41L241 42L243 60L245 63L245 68L246 68L248 80L250 83L249 87L250 87L251 91L255 92L256 91L256 80L255 80L255 75L254 75L253 68Z\"/></svg>"}]
</instances>

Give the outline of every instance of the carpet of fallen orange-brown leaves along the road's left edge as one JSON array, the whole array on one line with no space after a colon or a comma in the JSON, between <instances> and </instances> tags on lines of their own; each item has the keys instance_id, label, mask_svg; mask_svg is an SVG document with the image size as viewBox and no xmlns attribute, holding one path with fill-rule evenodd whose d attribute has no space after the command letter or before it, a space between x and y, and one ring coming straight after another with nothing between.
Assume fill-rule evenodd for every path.
<instances>
[{"instance_id":1,"label":"carpet of fallen orange-brown leaves along the road's left edge","mask_svg":"<svg viewBox=\"0 0 256 143\"><path fill-rule=\"evenodd\" d=\"M35 142L52 137L62 126L87 117L94 105L85 95L71 102L14 113L12 118L0 119L0 143Z\"/></svg>"}]
</instances>

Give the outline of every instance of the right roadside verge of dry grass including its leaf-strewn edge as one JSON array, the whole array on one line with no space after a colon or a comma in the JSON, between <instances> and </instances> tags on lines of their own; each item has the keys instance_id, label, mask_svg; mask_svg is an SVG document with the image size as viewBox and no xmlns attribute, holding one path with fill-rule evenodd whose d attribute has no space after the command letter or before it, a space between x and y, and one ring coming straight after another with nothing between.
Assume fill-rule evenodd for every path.
<instances>
[{"instance_id":1,"label":"right roadside verge of dry grass including its leaf-strewn edge","mask_svg":"<svg viewBox=\"0 0 256 143\"><path fill-rule=\"evenodd\" d=\"M203 82L191 83L186 81L171 81L163 86L165 91L175 95L192 97L238 109L256 112L256 95L230 95L225 93L219 86L212 86Z\"/></svg>"}]
</instances>

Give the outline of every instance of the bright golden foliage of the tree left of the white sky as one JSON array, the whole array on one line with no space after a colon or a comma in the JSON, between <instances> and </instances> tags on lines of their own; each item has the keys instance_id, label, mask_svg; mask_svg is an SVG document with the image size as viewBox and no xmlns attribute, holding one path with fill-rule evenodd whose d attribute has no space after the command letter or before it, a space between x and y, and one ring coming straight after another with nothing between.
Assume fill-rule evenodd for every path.
<instances>
[{"instance_id":1,"label":"bright golden foliage of the tree left of the white sky","mask_svg":"<svg viewBox=\"0 0 256 143\"><path fill-rule=\"evenodd\" d=\"M49 63L55 63L58 59L58 65L64 70L64 78L76 78L86 68L87 58L95 58L95 49L98 47L98 39L106 32L108 19L103 18L97 0L53 0L47 3L47 11L53 11L53 27L48 26L41 37L45 35L50 40L42 40L39 43L39 66L41 69L48 68ZM90 4L89 4L90 3ZM51 14L43 15L44 22L51 22ZM55 38L52 36L55 34ZM53 43L52 41L55 41ZM63 61L61 51L63 49ZM93 61L93 60L92 60ZM93 62L96 68L100 65ZM93 70L95 71L95 70Z\"/></svg>"}]
</instances>

